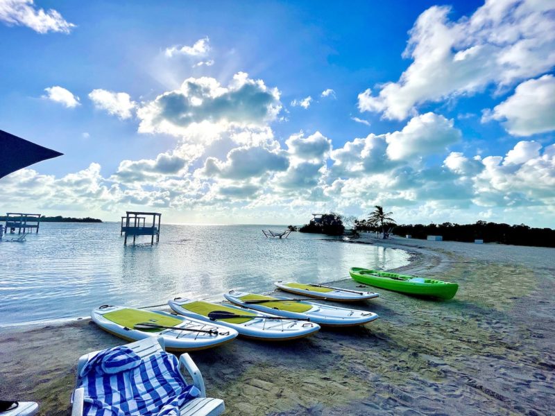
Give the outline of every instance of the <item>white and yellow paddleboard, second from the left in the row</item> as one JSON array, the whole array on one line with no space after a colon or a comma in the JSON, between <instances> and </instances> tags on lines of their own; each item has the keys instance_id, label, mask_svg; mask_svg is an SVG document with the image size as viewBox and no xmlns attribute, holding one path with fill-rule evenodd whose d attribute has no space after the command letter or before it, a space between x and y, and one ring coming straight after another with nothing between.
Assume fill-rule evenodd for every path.
<instances>
[{"instance_id":1,"label":"white and yellow paddleboard, second from the left in the row","mask_svg":"<svg viewBox=\"0 0 555 416\"><path fill-rule=\"evenodd\" d=\"M314 335L320 330L320 326L315 322L305 322L302 320L266 320L257 316L269 316L280 318L269 313L253 313L252 310L239 308L232 305L211 304L210 302L196 302L194 300L178 297L168 302L173 311L180 315L222 325L237 331L240 336L259 341L290 341ZM200 304L200 305L199 305ZM198 307L195 307L198 306ZM202 309L200 311L199 309ZM232 318L230 320L213 321L208 318L210 311L228 311L237 315L253 315L251 319ZM231 322L230 322L231 321ZM239 322L237 322L239 321ZM241 322L244 321L244 322Z\"/></svg>"}]
</instances>

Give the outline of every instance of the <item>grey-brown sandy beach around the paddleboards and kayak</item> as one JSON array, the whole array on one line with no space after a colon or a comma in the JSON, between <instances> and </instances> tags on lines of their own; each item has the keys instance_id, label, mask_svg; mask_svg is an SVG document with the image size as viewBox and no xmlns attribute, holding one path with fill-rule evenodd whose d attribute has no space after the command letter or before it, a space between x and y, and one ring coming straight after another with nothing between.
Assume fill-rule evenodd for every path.
<instances>
[{"instance_id":1,"label":"grey-brown sandy beach around the paddleboards and kayak","mask_svg":"<svg viewBox=\"0 0 555 416\"><path fill-rule=\"evenodd\" d=\"M399 271L455 281L459 292L441 302L377 290L377 300L352 304L380 315L365 327L191 353L226 414L552 412L554 249L366 236L352 243L408 250L411 264ZM89 320L0 336L0 397L38 401L42 415L70 414L80 355L122 343Z\"/></svg>"}]
</instances>

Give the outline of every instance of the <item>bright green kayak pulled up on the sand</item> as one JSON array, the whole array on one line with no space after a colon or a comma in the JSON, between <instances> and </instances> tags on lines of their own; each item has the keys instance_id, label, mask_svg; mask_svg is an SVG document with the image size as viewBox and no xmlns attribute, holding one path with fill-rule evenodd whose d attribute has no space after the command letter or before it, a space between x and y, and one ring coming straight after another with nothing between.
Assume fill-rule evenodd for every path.
<instances>
[{"instance_id":1,"label":"bright green kayak pulled up on the sand","mask_svg":"<svg viewBox=\"0 0 555 416\"><path fill-rule=\"evenodd\" d=\"M353 267L349 270L353 279L360 283L375 286L409 295L434 296L441 299L451 299L459 285L448 281L427 279L409 275L399 275L398 273L380 272L379 270L368 270Z\"/></svg>"}]
</instances>

